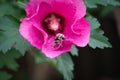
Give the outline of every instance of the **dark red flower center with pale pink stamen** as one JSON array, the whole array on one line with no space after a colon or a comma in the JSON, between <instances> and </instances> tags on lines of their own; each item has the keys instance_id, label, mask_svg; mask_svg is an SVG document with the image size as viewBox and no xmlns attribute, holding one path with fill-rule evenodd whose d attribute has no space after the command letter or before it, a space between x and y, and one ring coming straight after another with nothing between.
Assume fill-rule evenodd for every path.
<instances>
[{"instance_id":1,"label":"dark red flower center with pale pink stamen","mask_svg":"<svg viewBox=\"0 0 120 80\"><path fill-rule=\"evenodd\" d=\"M61 16L51 13L43 20L43 26L47 33L56 35L57 33L61 33L63 31L63 22L64 19Z\"/></svg>"}]
</instances>

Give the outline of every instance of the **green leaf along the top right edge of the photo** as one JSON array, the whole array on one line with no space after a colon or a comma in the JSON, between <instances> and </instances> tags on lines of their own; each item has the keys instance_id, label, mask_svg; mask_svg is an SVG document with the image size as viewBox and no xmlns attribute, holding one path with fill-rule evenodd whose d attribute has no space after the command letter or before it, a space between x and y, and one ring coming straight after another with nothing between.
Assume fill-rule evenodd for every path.
<instances>
[{"instance_id":1,"label":"green leaf along the top right edge of the photo","mask_svg":"<svg viewBox=\"0 0 120 80\"><path fill-rule=\"evenodd\" d=\"M120 6L120 3L117 0L84 0L88 8L97 8L97 4L103 6Z\"/></svg>"}]
</instances>

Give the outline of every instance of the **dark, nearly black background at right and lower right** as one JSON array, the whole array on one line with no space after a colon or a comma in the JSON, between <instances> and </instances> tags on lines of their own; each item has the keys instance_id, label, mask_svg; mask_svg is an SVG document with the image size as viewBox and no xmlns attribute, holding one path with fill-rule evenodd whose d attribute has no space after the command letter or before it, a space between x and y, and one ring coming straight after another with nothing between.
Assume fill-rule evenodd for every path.
<instances>
[{"instance_id":1,"label":"dark, nearly black background at right and lower right","mask_svg":"<svg viewBox=\"0 0 120 80\"><path fill-rule=\"evenodd\" d=\"M79 57L73 57L74 80L120 80L120 31L117 28L120 27L120 9L112 10L105 17L101 17L99 13L96 11L93 15L99 17L101 28L113 47L79 48Z\"/></svg>"}]
</instances>

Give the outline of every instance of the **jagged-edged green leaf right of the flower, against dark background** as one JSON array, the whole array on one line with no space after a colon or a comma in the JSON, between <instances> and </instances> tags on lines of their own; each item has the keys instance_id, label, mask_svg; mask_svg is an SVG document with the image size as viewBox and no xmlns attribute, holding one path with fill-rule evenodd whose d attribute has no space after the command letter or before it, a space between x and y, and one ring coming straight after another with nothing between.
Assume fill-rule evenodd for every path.
<instances>
[{"instance_id":1,"label":"jagged-edged green leaf right of the flower, against dark background","mask_svg":"<svg viewBox=\"0 0 120 80\"><path fill-rule=\"evenodd\" d=\"M92 48L105 48L105 47L112 47L111 44L108 42L108 38L104 36L104 32L100 29L100 23L96 18L91 16L87 17L87 19L91 23L91 36L89 46Z\"/></svg>"}]
</instances>

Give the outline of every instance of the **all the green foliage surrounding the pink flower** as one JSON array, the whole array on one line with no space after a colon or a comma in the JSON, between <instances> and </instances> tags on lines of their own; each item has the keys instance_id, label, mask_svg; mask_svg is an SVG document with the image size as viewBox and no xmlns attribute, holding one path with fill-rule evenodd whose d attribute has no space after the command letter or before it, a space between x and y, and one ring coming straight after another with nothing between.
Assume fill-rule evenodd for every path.
<instances>
[{"instance_id":1,"label":"all the green foliage surrounding the pink flower","mask_svg":"<svg viewBox=\"0 0 120 80\"><path fill-rule=\"evenodd\" d=\"M120 0L84 0L87 6L86 18L91 23L91 37L89 46L92 48L111 47L108 38L100 29L100 23L91 12L101 8L100 15L105 16L114 8L120 6ZM16 59L28 51L34 55L37 63L51 63L63 75L65 80L72 80L74 64L71 56L65 53L55 59L46 58L43 53L24 40L19 34L20 18L25 17L25 6L28 0L0 0L0 69L6 67L17 71L19 65ZM72 56L78 56L78 49L72 46ZM22 54L22 55L21 55ZM22 74L21 74L22 75ZM10 80L8 72L0 71L0 80Z\"/></svg>"}]
</instances>

